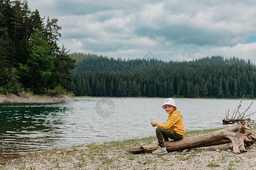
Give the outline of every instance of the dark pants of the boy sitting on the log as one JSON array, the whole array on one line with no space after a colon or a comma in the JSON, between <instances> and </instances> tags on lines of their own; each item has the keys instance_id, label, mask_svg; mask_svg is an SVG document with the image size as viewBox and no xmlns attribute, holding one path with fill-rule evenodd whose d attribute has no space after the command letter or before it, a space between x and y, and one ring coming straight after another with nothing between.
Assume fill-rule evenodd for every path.
<instances>
[{"instance_id":1,"label":"dark pants of the boy sitting on the log","mask_svg":"<svg viewBox=\"0 0 256 170\"><path fill-rule=\"evenodd\" d=\"M162 127L156 128L155 133L160 147L164 147L164 142L169 141L168 138L174 139L174 141L183 139L183 135L178 134L175 130L164 129Z\"/></svg>"}]
</instances>

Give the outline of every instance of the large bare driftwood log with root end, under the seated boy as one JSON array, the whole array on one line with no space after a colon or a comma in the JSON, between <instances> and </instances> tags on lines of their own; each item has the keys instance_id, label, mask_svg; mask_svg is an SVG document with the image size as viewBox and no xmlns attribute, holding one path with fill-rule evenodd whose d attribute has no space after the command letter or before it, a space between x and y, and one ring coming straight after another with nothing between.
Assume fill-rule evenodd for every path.
<instances>
[{"instance_id":1,"label":"large bare driftwood log with root end, under the seated boy","mask_svg":"<svg viewBox=\"0 0 256 170\"><path fill-rule=\"evenodd\" d=\"M251 133L249 122L240 121L235 126L214 131L208 134L196 135L193 137L184 138L181 141L164 142L164 147L167 151L185 150L188 148L205 147L213 145L222 145L232 142L233 153L240 154L247 146L256 142L256 135ZM158 148L158 144L144 145L130 148L130 152L139 154L141 152L152 152Z\"/></svg>"}]
</instances>

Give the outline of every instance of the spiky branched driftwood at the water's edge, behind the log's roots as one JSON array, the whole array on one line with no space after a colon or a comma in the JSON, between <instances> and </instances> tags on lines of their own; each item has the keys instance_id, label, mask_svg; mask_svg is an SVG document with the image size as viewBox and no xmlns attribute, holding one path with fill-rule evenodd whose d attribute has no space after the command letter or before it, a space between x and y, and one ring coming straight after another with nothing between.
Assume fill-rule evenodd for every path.
<instances>
[{"instance_id":1,"label":"spiky branched driftwood at the water's edge, behind the log's roots","mask_svg":"<svg viewBox=\"0 0 256 170\"><path fill-rule=\"evenodd\" d=\"M243 97L245 97L245 95L243 95ZM243 100L243 97L242 97L242 100ZM231 118L229 118L229 109L228 109L228 113L226 112L226 118L224 118L222 120L224 125L226 125L226 124L235 124L235 123L240 122L240 121L254 122L254 120L251 120L250 117L245 118L245 117L251 116L252 114L256 113L256 112L253 112L253 113L249 113L249 114L246 115L246 112L249 110L249 108L251 107L253 102L251 102L251 104L249 105L249 107L245 111L240 113L239 109L241 107L242 100L238 104L237 109L234 109L234 112L233 112Z\"/></svg>"}]
</instances>

